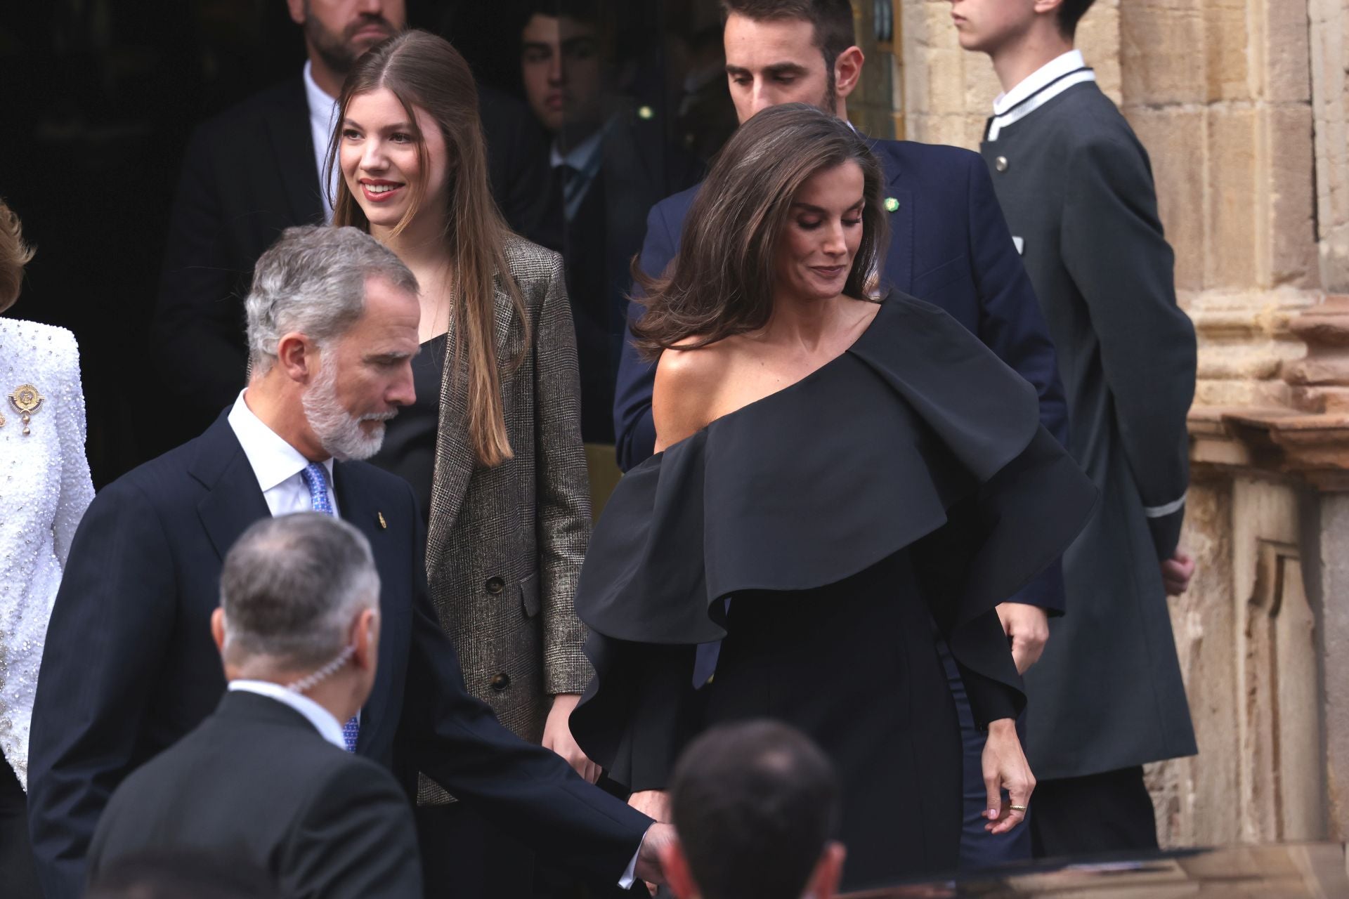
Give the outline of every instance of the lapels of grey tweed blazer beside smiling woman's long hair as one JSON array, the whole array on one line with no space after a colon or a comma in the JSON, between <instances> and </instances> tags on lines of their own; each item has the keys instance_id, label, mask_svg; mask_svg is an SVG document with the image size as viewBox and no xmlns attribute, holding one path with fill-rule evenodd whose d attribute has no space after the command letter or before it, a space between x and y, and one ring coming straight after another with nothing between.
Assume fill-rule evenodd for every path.
<instances>
[{"instance_id":1,"label":"lapels of grey tweed blazer beside smiling woman's long hair","mask_svg":"<svg viewBox=\"0 0 1349 899\"><path fill-rule=\"evenodd\" d=\"M500 372L505 390L506 372L509 371L506 350L514 318L514 303L502 287L500 276L494 283L492 299L496 368ZM445 334L445 373L440 383L436 469L430 483L430 504L436 514L429 515L430 526L426 532L426 574L430 581L436 580L444 565L451 528L459 518L464 492L468 489L468 481L478 465L478 457L473 454L473 446L468 438L468 391L456 388L455 328L453 317L451 317L449 330ZM526 348L522 352L529 350Z\"/></svg>"}]
</instances>

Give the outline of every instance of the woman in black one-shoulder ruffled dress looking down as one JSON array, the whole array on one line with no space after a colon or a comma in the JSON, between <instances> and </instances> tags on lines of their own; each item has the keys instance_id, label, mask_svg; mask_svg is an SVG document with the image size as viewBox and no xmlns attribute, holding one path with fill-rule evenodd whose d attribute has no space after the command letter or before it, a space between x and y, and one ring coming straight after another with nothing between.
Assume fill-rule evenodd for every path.
<instances>
[{"instance_id":1,"label":"woman in black one-shoulder ruffled dress looking down","mask_svg":"<svg viewBox=\"0 0 1349 899\"><path fill-rule=\"evenodd\" d=\"M672 270L643 284L662 452L606 507L576 600L596 677L572 732L634 805L661 813L703 728L788 721L838 767L850 888L956 867L938 633L1008 791L989 826L1024 818L1025 700L994 607L1094 501L1028 383L935 306L867 298L881 202L834 116L776 106L731 139Z\"/></svg>"}]
</instances>

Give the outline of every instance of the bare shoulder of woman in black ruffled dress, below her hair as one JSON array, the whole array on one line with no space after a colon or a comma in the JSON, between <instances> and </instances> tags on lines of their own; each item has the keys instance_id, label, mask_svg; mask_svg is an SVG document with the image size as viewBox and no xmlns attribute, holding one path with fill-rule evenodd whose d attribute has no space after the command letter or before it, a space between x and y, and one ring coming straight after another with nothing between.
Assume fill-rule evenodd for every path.
<instances>
[{"instance_id":1,"label":"bare shoulder of woman in black ruffled dress, below her hair","mask_svg":"<svg viewBox=\"0 0 1349 899\"><path fill-rule=\"evenodd\" d=\"M718 394L731 367L728 342L661 353L652 391L657 452L692 437L716 416Z\"/></svg>"}]
</instances>

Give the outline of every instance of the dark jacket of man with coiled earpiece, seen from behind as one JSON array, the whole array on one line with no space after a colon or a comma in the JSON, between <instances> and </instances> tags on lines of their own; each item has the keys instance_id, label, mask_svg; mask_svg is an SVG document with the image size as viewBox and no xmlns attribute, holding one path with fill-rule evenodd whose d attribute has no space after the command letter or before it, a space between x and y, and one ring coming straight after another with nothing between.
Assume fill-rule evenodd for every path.
<instances>
[{"instance_id":1,"label":"dark jacket of man with coiled earpiece, seen from behind","mask_svg":"<svg viewBox=\"0 0 1349 899\"><path fill-rule=\"evenodd\" d=\"M89 877L119 859L174 850L248 863L290 899L421 896L417 830L398 782L256 693L227 693L117 787Z\"/></svg>"}]
</instances>

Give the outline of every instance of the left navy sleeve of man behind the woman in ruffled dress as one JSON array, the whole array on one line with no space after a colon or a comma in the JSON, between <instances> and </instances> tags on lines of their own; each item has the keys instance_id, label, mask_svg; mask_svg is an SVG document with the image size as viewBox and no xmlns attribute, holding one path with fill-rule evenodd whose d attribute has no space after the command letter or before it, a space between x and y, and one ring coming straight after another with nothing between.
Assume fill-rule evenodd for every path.
<instances>
[{"instance_id":1,"label":"left navy sleeve of man behind the woman in ruffled dress","mask_svg":"<svg viewBox=\"0 0 1349 899\"><path fill-rule=\"evenodd\" d=\"M657 204L646 217L646 240L642 241L642 271L657 276L674 259L677 233L666 218L665 204ZM635 291L635 288L634 288ZM642 314L638 303L627 305L630 321ZM618 385L614 391L614 442L618 466L625 472L641 465L656 452L656 422L652 418L652 391L656 385L656 363L643 361L633 346L631 334L623 341L618 360Z\"/></svg>"}]
</instances>

